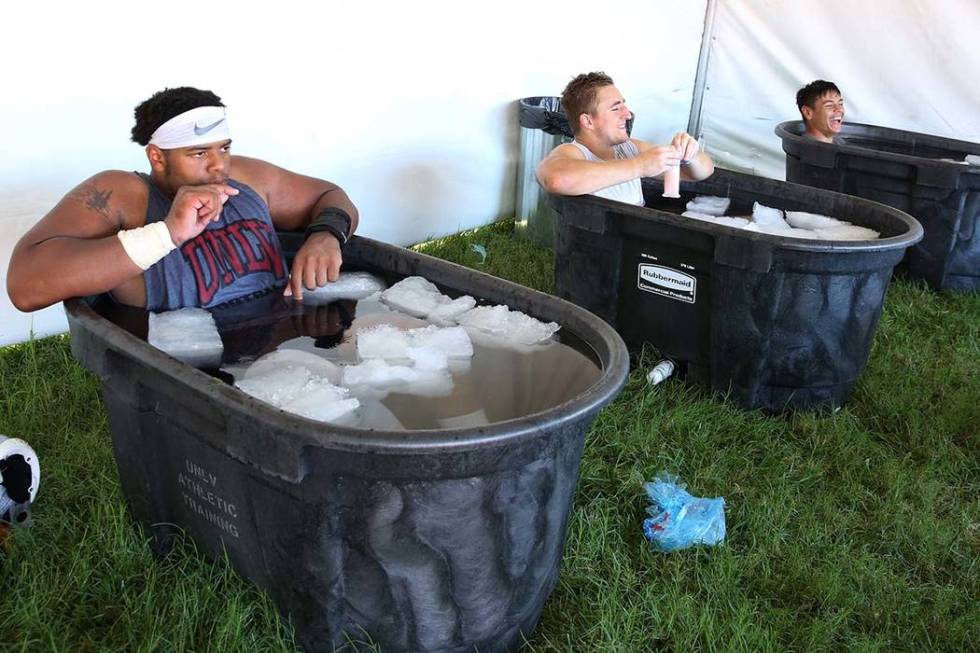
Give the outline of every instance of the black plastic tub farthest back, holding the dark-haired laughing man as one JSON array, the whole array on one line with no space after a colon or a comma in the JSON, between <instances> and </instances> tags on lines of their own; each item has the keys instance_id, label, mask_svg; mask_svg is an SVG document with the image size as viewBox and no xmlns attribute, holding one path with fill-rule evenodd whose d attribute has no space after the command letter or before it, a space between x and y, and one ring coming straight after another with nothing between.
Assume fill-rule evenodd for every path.
<instances>
[{"instance_id":1,"label":"black plastic tub farthest back, holding the dark-haired laughing man","mask_svg":"<svg viewBox=\"0 0 980 653\"><path fill-rule=\"evenodd\" d=\"M936 290L980 290L980 144L845 123L840 143L804 138L803 122L776 126L786 180L881 202L922 223L908 274Z\"/></svg>"}]
</instances>

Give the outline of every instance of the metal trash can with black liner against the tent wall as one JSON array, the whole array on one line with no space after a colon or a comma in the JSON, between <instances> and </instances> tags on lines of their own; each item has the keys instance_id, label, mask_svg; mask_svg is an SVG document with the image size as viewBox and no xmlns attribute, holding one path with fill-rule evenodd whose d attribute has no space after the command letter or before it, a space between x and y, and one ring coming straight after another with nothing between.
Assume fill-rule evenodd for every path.
<instances>
[{"instance_id":1,"label":"metal trash can with black liner against the tent wall","mask_svg":"<svg viewBox=\"0 0 980 653\"><path fill-rule=\"evenodd\" d=\"M554 246L554 214L536 171L551 150L572 140L561 98L527 97L518 102L521 150L517 159L517 234L543 247Z\"/></svg>"}]
</instances>

